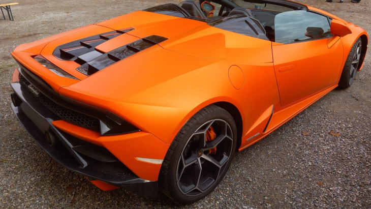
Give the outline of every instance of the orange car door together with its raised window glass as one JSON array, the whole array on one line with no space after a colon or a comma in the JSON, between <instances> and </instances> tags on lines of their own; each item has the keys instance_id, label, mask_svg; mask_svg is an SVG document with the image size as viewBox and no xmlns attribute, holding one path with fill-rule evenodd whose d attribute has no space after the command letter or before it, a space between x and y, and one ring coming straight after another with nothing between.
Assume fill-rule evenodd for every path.
<instances>
[{"instance_id":1,"label":"orange car door together with its raised window glass","mask_svg":"<svg viewBox=\"0 0 371 209\"><path fill-rule=\"evenodd\" d=\"M281 105L286 106L335 84L341 72L343 45L329 47L330 19L308 11L274 18L274 71Z\"/></svg>"}]
</instances>

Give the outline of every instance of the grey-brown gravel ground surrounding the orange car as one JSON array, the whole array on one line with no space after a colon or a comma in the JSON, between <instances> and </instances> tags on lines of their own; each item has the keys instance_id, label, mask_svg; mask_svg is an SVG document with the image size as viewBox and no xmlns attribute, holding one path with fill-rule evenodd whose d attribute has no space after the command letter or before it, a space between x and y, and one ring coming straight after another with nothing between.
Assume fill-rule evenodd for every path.
<instances>
[{"instance_id":1,"label":"grey-brown gravel ground surrounding the orange car","mask_svg":"<svg viewBox=\"0 0 371 209\"><path fill-rule=\"evenodd\" d=\"M3 1L2 1L3 2ZM14 22L0 20L0 207L371 208L371 56L353 85L335 89L290 122L237 153L225 179L189 205L103 192L57 164L22 128L10 108L19 44L166 2L18 1ZM300 0L371 31L369 0L360 4ZM330 134L338 133L338 136ZM335 134L336 135L336 134Z\"/></svg>"}]
</instances>

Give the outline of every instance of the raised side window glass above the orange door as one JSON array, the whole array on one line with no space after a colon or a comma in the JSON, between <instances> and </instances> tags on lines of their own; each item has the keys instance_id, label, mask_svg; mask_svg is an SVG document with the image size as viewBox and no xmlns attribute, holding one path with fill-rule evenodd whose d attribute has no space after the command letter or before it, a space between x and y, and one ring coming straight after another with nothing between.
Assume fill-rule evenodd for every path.
<instances>
[{"instance_id":1,"label":"raised side window glass above the orange door","mask_svg":"<svg viewBox=\"0 0 371 209\"><path fill-rule=\"evenodd\" d=\"M293 43L331 37L328 18L303 10L282 12L274 18L277 43Z\"/></svg>"}]
</instances>

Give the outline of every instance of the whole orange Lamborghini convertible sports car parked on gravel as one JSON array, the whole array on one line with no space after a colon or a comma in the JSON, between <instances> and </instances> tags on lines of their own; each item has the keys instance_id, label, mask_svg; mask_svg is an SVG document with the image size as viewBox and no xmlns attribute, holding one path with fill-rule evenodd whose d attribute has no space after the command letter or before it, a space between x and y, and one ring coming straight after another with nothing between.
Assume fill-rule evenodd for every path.
<instances>
[{"instance_id":1,"label":"whole orange Lamborghini convertible sports car parked on gravel","mask_svg":"<svg viewBox=\"0 0 371 209\"><path fill-rule=\"evenodd\" d=\"M234 153L349 87L367 44L361 27L296 2L165 4L18 46L12 108L102 190L189 203Z\"/></svg>"}]
</instances>

